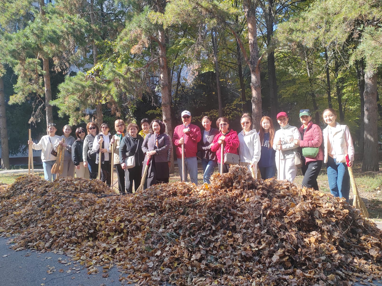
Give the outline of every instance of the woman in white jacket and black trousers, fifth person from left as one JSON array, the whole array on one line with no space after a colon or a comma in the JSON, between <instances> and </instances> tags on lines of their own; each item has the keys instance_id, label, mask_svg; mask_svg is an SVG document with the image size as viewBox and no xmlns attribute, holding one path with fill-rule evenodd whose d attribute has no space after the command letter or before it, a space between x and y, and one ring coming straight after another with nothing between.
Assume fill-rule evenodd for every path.
<instances>
[{"instance_id":1,"label":"woman in white jacket and black trousers, fifth person from left","mask_svg":"<svg viewBox=\"0 0 382 286\"><path fill-rule=\"evenodd\" d=\"M111 166L110 166L110 141L113 135L109 132L107 123L101 124L101 132L95 136L92 151L96 153L95 164L101 164L101 178L100 180L111 185ZM100 157L101 155L101 157Z\"/></svg>"}]
</instances>

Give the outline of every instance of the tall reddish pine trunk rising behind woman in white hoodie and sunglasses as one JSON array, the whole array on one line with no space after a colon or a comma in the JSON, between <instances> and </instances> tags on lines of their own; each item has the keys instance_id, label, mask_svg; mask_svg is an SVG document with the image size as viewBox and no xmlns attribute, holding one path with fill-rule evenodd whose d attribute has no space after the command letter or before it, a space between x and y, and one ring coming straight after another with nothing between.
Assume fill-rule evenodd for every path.
<instances>
[{"instance_id":1,"label":"tall reddish pine trunk rising behind woman in white hoodie and sunglasses","mask_svg":"<svg viewBox=\"0 0 382 286\"><path fill-rule=\"evenodd\" d=\"M257 45L257 28L256 28L256 2L244 0L244 14L248 26L249 41L249 70L251 71L251 92L252 92L252 121L254 128L259 130L260 120L262 116L262 100L261 100L261 82L260 82L260 59L259 47ZM242 48L243 51L243 48Z\"/></svg>"}]
</instances>

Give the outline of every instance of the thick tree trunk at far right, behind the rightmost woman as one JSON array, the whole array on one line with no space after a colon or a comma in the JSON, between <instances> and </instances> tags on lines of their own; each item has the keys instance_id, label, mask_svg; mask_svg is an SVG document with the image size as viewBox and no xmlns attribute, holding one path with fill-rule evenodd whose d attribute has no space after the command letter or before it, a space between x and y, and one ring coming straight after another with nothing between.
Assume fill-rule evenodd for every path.
<instances>
[{"instance_id":1,"label":"thick tree trunk at far right, behind the rightmost woman","mask_svg":"<svg viewBox=\"0 0 382 286\"><path fill-rule=\"evenodd\" d=\"M372 66L368 66L365 72L365 133L362 171L378 171L378 121L377 112L377 73Z\"/></svg>"}]
</instances>

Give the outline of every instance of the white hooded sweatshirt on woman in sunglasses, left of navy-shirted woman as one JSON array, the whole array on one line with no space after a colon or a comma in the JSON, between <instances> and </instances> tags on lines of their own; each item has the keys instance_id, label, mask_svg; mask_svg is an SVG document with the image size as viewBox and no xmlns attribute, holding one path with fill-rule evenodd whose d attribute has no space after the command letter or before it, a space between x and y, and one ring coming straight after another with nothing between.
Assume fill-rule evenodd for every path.
<instances>
[{"instance_id":1,"label":"white hooded sweatshirt on woman in sunglasses, left of navy-shirted woman","mask_svg":"<svg viewBox=\"0 0 382 286\"><path fill-rule=\"evenodd\" d=\"M238 134L240 162L257 163L261 156L260 136L256 129L250 130L244 135L244 130Z\"/></svg>"}]
</instances>

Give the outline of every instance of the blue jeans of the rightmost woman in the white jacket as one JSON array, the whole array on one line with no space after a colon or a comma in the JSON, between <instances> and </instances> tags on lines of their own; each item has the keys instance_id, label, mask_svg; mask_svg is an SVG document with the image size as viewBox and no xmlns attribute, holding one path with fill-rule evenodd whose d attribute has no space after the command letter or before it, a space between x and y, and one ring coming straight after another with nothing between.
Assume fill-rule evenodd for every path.
<instances>
[{"instance_id":1,"label":"blue jeans of the rightmost woman in the white jacket","mask_svg":"<svg viewBox=\"0 0 382 286\"><path fill-rule=\"evenodd\" d=\"M346 163L337 163L328 156L326 163L330 193L335 197L345 198L349 202L350 177Z\"/></svg>"}]
</instances>

